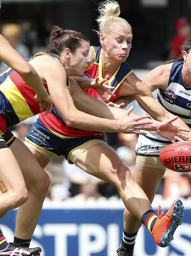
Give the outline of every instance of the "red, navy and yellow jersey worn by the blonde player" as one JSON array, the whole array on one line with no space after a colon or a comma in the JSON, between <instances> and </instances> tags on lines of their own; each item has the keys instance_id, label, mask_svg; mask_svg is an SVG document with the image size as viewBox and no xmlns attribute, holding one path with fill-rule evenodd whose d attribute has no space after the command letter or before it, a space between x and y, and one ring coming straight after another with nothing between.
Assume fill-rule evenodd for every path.
<instances>
[{"instance_id":1,"label":"red, navy and yellow jersey worn by the blonde player","mask_svg":"<svg viewBox=\"0 0 191 256\"><path fill-rule=\"evenodd\" d=\"M101 62L101 51L102 47L96 47L92 46L95 58L93 62L91 63L90 67L84 72L83 77L86 78L95 78L99 76L100 80L103 80L102 78L102 62ZM111 90L113 93L115 93L116 97L111 97L105 92L105 97L108 98L109 101L114 101L119 98L119 90L120 85L125 80L125 78L131 74L133 70L130 68L130 66L126 62L122 62L120 67L116 70L115 74L107 81L109 85L115 87L115 89ZM106 82L106 83L107 83ZM70 80L67 79L67 87L70 89ZM94 89L87 89L86 92L90 94L93 97L98 98L99 100L103 101L100 95L94 90ZM81 130L77 128L68 127L63 119L61 118L61 115L59 114L56 107L53 107L53 110L50 114L45 115L44 112L39 115L39 118L41 122L53 133L56 135L62 137L62 138L74 138L74 137L85 137L85 136L91 136L95 134L100 134L105 136L105 134L101 131L87 131L87 130Z\"/></svg>"}]
</instances>

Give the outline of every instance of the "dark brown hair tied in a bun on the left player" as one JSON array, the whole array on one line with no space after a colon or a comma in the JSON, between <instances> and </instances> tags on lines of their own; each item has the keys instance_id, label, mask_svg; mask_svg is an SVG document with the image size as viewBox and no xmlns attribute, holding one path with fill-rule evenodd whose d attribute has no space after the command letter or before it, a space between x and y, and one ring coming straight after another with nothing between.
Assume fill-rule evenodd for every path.
<instances>
[{"instance_id":1,"label":"dark brown hair tied in a bun on the left player","mask_svg":"<svg viewBox=\"0 0 191 256\"><path fill-rule=\"evenodd\" d=\"M90 43L88 38L80 32L53 26L48 52L59 56L65 48L69 48L71 53L75 53L84 41Z\"/></svg>"}]
</instances>

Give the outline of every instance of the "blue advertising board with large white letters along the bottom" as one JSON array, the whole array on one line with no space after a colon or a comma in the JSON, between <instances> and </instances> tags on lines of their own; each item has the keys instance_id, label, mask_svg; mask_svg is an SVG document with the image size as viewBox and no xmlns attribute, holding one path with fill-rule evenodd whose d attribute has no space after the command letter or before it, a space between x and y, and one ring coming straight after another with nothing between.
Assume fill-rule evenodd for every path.
<instances>
[{"instance_id":1,"label":"blue advertising board with large white letters along the bottom","mask_svg":"<svg viewBox=\"0 0 191 256\"><path fill-rule=\"evenodd\" d=\"M142 226L134 256L191 255L191 209L174 234L170 247L158 247ZM4 236L13 241L16 210L0 220ZM116 256L123 232L123 209L43 209L31 247L40 246L41 256Z\"/></svg>"}]
</instances>

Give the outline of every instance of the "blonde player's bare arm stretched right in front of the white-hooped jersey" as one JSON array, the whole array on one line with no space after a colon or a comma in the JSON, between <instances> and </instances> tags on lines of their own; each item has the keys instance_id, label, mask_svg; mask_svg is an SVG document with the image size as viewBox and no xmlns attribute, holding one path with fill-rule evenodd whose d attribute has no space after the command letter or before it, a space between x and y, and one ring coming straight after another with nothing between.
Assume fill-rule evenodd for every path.
<instances>
[{"instance_id":1,"label":"blonde player's bare arm stretched right in front of the white-hooped jersey","mask_svg":"<svg viewBox=\"0 0 191 256\"><path fill-rule=\"evenodd\" d=\"M157 75L155 74L155 80L160 81L160 79L161 72L158 72ZM158 88L161 87L162 84L160 84L160 86L158 84ZM155 87L153 86L152 89L155 90ZM168 112L164 107L162 107L162 105L160 105L160 103L153 99L152 92L149 89L148 85L144 81L138 79L138 77L135 76L134 73L130 74L126 78L121 90L122 92L120 91L120 93L122 93L123 95L125 91L128 91L130 98L137 100L140 107L142 107L155 120L164 121L175 117L175 115ZM177 118L177 120L175 120L173 124L190 130L190 128L180 118ZM191 132L189 132L187 135L189 136L189 139L191 139Z\"/></svg>"}]
</instances>

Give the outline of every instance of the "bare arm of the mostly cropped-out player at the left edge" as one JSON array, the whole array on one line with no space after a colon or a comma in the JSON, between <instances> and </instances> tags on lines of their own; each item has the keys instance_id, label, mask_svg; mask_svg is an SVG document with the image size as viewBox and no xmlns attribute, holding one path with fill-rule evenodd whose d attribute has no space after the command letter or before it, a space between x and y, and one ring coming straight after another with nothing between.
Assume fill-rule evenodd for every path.
<instances>
[{"instance_id":1,"label":"bare arm of the mostly cropped-out player at the left edge","mask_svg":"<svg viewBox=\"0 0 191 256\"><path fill-rule=\"evenodd\" d=\"M11 47L2 35L0 35L0 59L11 69L15 70L26 84L36 92L35 100L40 102L40 110L43 111L43 108L46 108L47 113L51 112L52 100L44 88L39 75L35 69Z\"/></svg>"}]
</instances>

